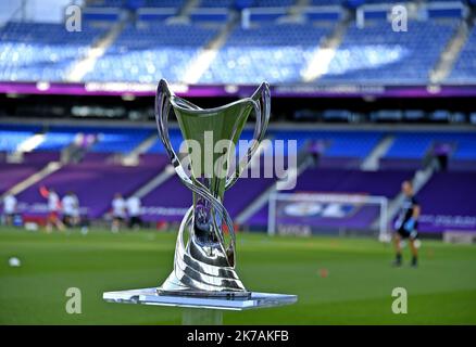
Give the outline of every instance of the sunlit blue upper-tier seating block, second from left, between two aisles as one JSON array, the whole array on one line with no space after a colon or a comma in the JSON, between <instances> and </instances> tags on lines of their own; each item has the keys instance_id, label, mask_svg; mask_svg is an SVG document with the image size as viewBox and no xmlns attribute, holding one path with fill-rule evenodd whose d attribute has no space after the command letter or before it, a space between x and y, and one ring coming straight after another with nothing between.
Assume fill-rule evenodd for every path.
<instances>
[{"instance_id":1,"label":"sunlit blue upper-tier seating block, second from left, between two aisles","mask_svg":"<svg viewBox=\"0 0 476 347\"><path fill-rule=\"evenodd\" d=\"M180 81L198 50L217 34L199 25L128 25L96 62L87 81Z\"/></svg>"}]
</instances>

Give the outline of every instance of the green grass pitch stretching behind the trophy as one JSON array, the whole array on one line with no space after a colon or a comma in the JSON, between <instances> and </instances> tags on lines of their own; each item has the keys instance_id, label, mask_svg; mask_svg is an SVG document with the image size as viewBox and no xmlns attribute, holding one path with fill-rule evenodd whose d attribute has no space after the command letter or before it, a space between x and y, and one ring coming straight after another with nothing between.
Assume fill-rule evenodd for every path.
<instances>
[{"instance_id":1,"label":"green grass pitch stretching behind the trophy","mask_svg":"<svg viewBox=\"0 0 476 347\"><path fill-rule=\"evenodd\" d=\"M109 304L102 292L155 286L168 275L175 233L92 230L45 234L0 229L1 324L180 324L179 308ZM424 241L419 268L392 268L372 239L238 234L238 273L252 291L289 293L280 308L225 312L225 324L475 324L476 247ZM21 267L10 267L17 257ZM68 287L82 314L68 314ZM408 313L394 314L394 287Z\"/></svg>"}]
</instances>

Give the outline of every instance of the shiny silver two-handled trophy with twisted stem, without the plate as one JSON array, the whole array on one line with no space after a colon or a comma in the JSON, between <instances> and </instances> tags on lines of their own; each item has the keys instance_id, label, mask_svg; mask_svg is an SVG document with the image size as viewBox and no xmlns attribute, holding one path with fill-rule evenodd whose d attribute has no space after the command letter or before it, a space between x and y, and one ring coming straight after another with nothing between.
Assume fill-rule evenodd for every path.
<instances>
[{"instance_id":1,"label":"shiny silver two-handled trophy with twisted stem, without the plate","mask_svg":"<svg viewBox=\"0 0 476 347\"><path fill-rule=\"evenodd\" d=\"M196 141L201 147L200 163L189 160L184 167L168 139L167 118L173 110L183 137ZM254 112L256 124L253 141L247 155L239 159L234 170L229 163L235 156L241 131ZM270 119L270 89L263 82L251 98L228 105L202 110L174 95L165 80L159 83L155 117L159 134L181 182L193 193L193 205L185 215L177 236L174 270L158 288L160 294L192 296L248 297L236 273L236 235L231 219L223 206L224 193L248 166L263 139ZM212 134L212 137L208 136ZM213 143L205 143L213 139ZM218 141L228 140L222 153L213 152L206 165L205 155ZM212 150L213 151L213 150ZM197 156L193 156L197 159ZM217 169L218 168L218 169ZM228 175L228 171L231 171ZM226 241L225 230L229 234ZM187 241L185 241L185 239Z\"/></svg>"}]
</instances>

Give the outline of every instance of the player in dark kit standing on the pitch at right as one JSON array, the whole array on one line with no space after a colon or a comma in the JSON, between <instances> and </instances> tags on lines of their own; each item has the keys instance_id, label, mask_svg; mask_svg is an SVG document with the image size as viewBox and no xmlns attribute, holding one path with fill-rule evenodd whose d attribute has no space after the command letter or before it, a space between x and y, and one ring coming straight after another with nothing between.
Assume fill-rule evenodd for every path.
<instances>
[{"instance_id":1,"label":"player in dark kit standing on the pitch at right","mask_svg":"<svg viewBox=\"0 0 476 347\"><path fill-rule=\"evenodd\" d=\"M418 216L419 216L419 205L413 195L413 185L410 181L404 181L402 183L402 192L405 195L402 206L400 208L399 216L394 223L394 247L397 252L397 258L394 260L396 266L402 265L402 239L409 239L410 249L412 252L412 267L417 266L418 250L415 245L415 241L418 237L417 227L418 227Z\"/></svg>"}]
</instances>

